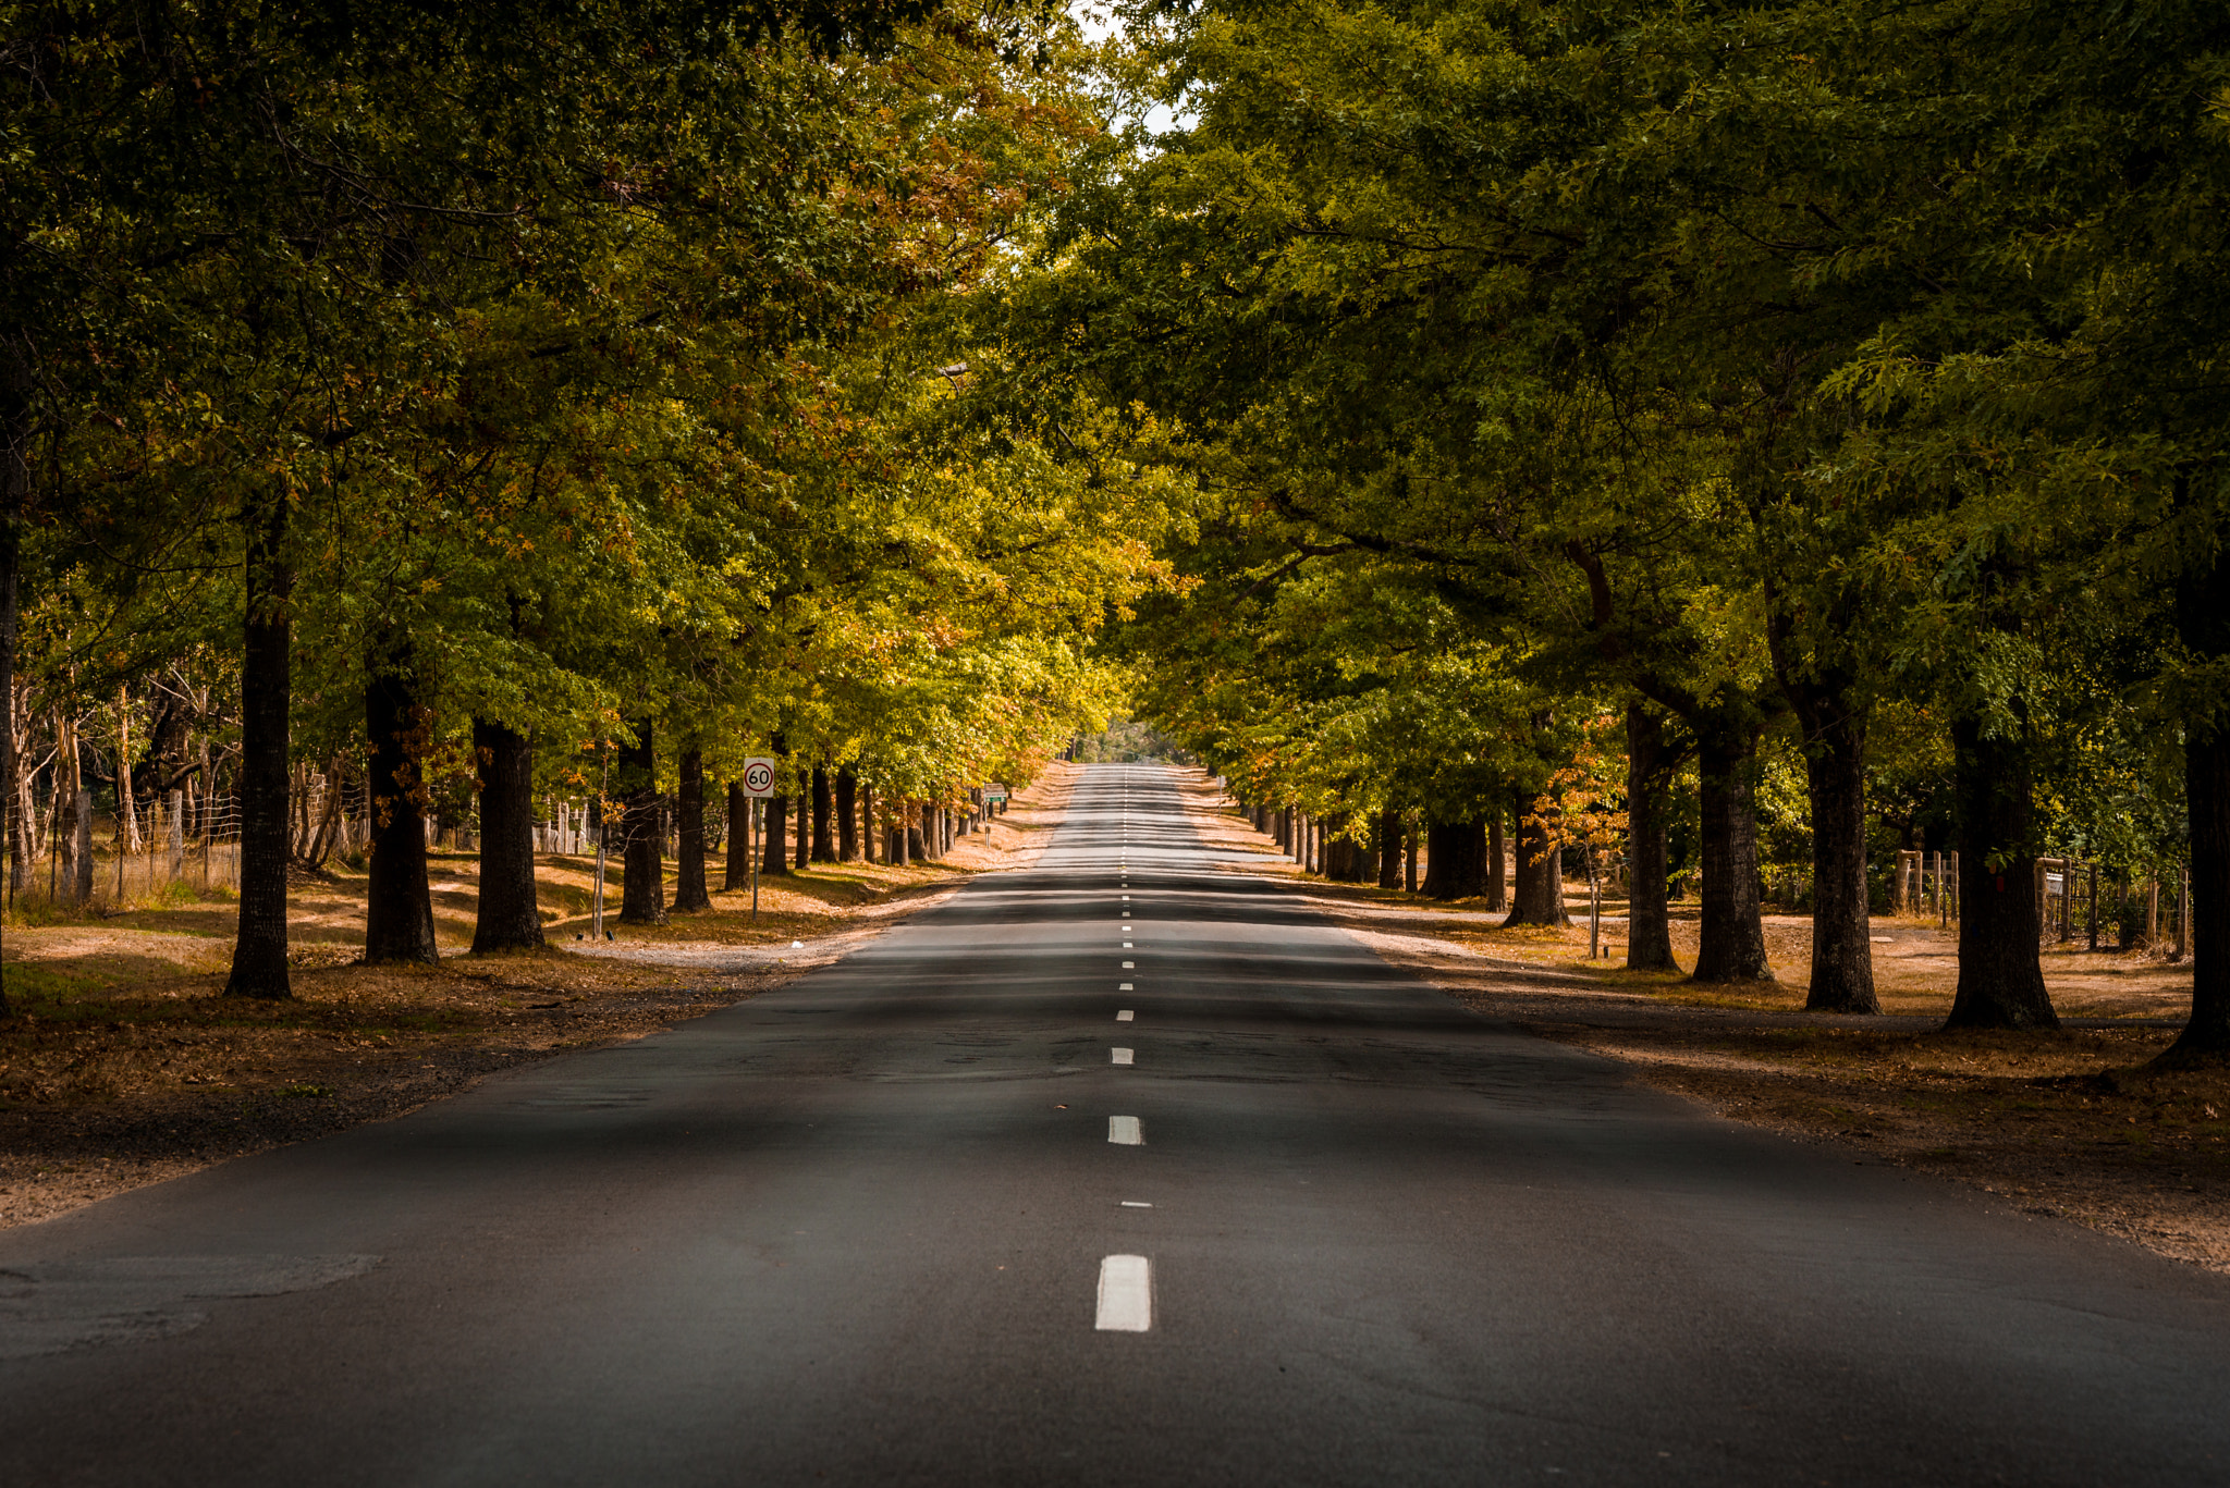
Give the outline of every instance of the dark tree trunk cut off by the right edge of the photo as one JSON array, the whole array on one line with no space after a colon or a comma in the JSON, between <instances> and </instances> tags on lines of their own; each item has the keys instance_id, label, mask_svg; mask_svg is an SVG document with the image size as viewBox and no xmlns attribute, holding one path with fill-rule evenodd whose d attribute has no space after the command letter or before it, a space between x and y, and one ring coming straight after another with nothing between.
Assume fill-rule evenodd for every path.
<instances>
[{"instance_id":1,"label":"dark tree trunk cut off by the right edge of the photo","mask_svg":"<svg viewBox=\"0 0 2230 1488\"><path fill-rule=\"evenodd\" d=\"M2176 629L2194 656L2230 656L2230 564L2221 558L2176 584ZM2183 805L2192 839L2192 924L2183 937L2192 1017L2159 1064L2221 1064L2230 1060L2230 729L2214 716L2183 725Z\"/></svg>"}]
</instances>

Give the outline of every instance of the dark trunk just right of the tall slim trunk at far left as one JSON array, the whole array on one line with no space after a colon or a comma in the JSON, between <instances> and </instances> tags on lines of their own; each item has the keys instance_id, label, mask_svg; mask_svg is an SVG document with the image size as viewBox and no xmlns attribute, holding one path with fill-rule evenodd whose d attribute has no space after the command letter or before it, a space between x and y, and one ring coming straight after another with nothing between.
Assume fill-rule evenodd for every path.
<instances>
[{"instance_id":1,"label":"dark trunk just right of the tall slim trunk at far left","mask_svg":"<svg viewBox=\"0 0 2230 1488\"><path fill-rule=\"evenodd\" d=\"M433 886L426 881L426 781L433 709L419 700L417 654L388 636L366 658L363 732L372 741L372 872L363 906L363 959L435 966Z\"/></svg>"}]
</instances>

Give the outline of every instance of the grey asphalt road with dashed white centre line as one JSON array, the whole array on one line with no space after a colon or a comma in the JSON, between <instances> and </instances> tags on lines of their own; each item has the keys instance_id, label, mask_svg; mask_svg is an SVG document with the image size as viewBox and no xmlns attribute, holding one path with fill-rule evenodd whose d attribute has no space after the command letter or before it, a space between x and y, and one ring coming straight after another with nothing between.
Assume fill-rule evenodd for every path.
<instances>
[{"instance_id":1,"label":"grey asphalt road with dashed white centre line","mask_svg":"<svg viewBox=\"0 0 2230 1488\"><path fill-rule=\"evenodd\" d=\"M2221 1278L1487 1024L1142 765L778 993L0 1234L40 1488L2208 1484L2226 1397Z\"/></svg>"}]
</instances>

